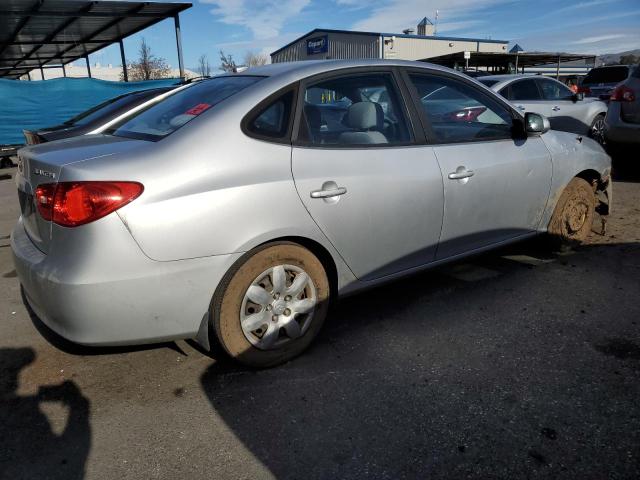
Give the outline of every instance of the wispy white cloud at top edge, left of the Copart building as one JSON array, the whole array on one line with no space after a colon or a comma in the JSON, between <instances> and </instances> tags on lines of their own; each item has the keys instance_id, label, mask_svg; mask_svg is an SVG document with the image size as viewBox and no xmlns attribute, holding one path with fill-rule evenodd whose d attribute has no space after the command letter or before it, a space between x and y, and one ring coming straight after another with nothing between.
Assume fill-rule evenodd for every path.
<instances>
[{"instance_id":1,"label":"wispy white cloud at top edge, left of the Copart building","mask_svg":"<svg viewBox=\"0 0 640 480\"><path fill-rule=\"evenodd\" d=\"M200 0L214 7L211 14L227 25L251 30L256 39L277 37L284 24L296 17L311 0Z\"/></svg>"}]
</instances>

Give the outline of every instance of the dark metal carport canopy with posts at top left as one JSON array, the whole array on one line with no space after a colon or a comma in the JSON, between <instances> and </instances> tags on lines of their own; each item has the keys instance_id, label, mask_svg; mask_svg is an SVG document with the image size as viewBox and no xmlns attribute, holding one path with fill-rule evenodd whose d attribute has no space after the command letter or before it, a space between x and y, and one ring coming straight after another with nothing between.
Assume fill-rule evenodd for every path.
<instances>
[{"instance_id":1,"label":"dark metal carport canopy with posts at top left","mask_svg":"<svg viewBox=\"0 0 640 480\"><path fill-rule=\"evenodd\" d=\"M19 78L54 63L64 67L80 58L86 59L88 67L90 53L113 43L122 47L123 38L168 18L175 21L182 75L178 14L191 6L112 0L2 0L0 78Z\"/></svg>"}]
</instances>

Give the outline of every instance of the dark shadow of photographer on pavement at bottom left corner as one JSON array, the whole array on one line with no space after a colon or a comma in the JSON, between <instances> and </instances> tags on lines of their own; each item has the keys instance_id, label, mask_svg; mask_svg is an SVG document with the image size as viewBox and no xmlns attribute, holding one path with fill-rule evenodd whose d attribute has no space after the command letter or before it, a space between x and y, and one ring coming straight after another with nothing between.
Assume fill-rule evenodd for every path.
<instances>
[{"instance_id":1,"label":"dark shadow of photographer on pavement at bottom left corner","mask_svg":"<svg viewBox=\"0 0 640 480\"><path fill-rule=\"evenodd\" d=\"M18 375L35 358L31 348L0 349L0 477L83 478L91 448L89 400L69 380L19 395ZM68 412L59 434L43 413L47 403Z\"/></svg>"}]
</instances>

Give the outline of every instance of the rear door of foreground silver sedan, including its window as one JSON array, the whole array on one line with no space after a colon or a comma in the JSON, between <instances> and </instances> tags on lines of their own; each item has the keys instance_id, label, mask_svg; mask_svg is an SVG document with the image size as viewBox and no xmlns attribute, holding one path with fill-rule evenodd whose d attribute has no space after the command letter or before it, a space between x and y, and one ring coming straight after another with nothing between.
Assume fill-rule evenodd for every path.
<instances>
[{"instance_id":1,"label":"rear door of foreground silver sedan, including its window","mask_svg":"<svg viewBox=\"0 0 640 480\"><path fill-rule=\"evenodd\" d=\"M303 82L292 171L300 199L360 279L433 261L442 177L392 69Z\"/></svg>"}]
</instances>

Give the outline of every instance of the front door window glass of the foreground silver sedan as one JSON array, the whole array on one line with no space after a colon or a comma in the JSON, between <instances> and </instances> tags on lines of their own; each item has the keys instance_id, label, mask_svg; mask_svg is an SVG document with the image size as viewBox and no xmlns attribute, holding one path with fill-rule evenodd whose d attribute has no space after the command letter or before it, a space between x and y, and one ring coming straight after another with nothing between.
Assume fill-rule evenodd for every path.
<instances>
[{"instance_id":1,"label":"front door window glass of the foreground silver sedan","mask_svg":"<svg viewBox=\"0 0 640 480\"><path fill-rule=\"evenodd\" d=\"M509 111L464 82L435 75L410 74L431 126L432 143L511 138Z\"/></svg>"}]
</instances>

